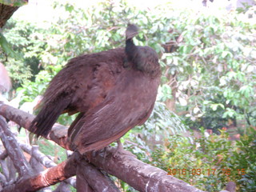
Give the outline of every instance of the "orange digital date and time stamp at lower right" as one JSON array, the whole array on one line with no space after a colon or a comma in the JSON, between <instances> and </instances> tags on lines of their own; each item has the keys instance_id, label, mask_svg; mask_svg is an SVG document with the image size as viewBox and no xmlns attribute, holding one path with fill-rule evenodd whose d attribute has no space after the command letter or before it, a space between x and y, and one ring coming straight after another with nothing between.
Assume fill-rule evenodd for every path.
<instances>
[{"instance_id":1,"label":"orange digital date and time stamp at lower right","mask_svg":"<svg viewBox=\"0 0 256 192\"><path fill-rule=\"evenodd\" d=\"M182 174L182 175L214 175L214 174L226 174L226 176L229 176L230 174L240 174L244 175L246 174L246 169L237 169L237 170L231 170L229 168L226 169L168 169L167 170L168 175L176 175L176 174Z\"/></svg>"}]
</instances>

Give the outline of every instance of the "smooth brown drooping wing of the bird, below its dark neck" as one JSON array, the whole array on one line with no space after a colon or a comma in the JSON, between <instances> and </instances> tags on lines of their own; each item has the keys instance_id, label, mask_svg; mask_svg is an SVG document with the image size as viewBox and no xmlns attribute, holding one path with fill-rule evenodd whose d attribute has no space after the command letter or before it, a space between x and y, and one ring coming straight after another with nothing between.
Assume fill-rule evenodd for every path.
<instances>
[{"instance_id":1,"label":"smooth brown drooping wing of the bird, below its dark neck","mask_svg":"<svg viewBox=\"0 0 256 192\"><path fill-rule=\"evenodd\" d=\"M145 122L150 115L158 82L143 78L139 71L130 74L122 74L120 77L123 79L110 91L106 100L80 117L74 125L70 138L80 153L107 146ZM149 86L154 87L153 92Z\"/></svg>"}]
</instances>

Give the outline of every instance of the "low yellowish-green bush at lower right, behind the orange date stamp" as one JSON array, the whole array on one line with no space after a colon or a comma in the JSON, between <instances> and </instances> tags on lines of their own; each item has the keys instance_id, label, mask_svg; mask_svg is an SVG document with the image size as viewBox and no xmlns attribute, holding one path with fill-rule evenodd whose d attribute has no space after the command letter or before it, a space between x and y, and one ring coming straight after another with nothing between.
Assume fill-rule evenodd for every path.
<instances>
[{"instance_id":1,"label":"low yellowish-green bush at lower right, behind the orange date stamp","mask_svg":"<svg viewBox=\"0 0 256 192\"><path fill-rule=\"evenodd\" d=\"M190 142L181 135L168 139L151 154L151 165L166 170L175 178L206 191L220 191L229 181L238 191L255 191L255 130L241 141L230 142L228 134L205 137Z\"/></svg>"}]
</instances>

